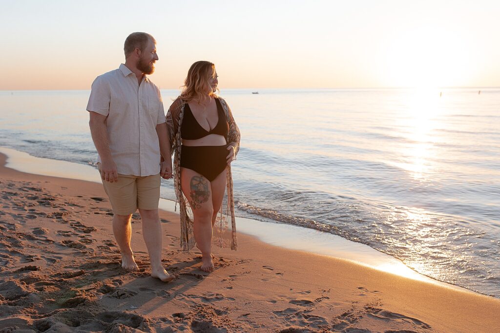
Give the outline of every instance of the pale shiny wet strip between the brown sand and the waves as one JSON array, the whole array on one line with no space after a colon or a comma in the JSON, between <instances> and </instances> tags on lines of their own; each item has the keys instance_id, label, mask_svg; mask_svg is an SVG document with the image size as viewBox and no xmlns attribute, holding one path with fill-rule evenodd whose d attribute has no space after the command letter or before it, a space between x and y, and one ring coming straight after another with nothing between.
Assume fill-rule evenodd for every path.
<instances>
[{"instance_id":1,"label":"pale shiny wet strip between the brown sand and the waves","mask_svg":"<svg viewBox=\"0 0 500 333\"><path fill-rule=\"evenodd\" d=\"M18 171L45 176L61 176L62 178L92 181L101 184L101 179L92 165L35 157L26 152L1 146L0 154L6 155L7 167ZM178 214L176 204L172 200L160 197L159 208ZM271 223L246 217L236 217L238 232L254 236L267 244L345 259L388 273L428 283L436 283L443 287L476 292L420 274L407 267L398 258L336 234L277 221Z\"/></svg>"}]
</instances>

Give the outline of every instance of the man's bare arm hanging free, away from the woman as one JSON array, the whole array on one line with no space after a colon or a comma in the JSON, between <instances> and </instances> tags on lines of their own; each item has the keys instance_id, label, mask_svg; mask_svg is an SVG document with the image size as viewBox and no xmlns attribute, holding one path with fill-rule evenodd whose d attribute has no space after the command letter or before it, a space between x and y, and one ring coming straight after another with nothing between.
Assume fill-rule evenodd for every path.
<instances>
[{"instance_id":1,"label":"man's bare arm hanging free, away from the woman","mask_svg":"<svg viewBox=\"0 0 500 333\"><path fill-rule=\"evenodd\" d=\"M100 163L100 176L102 180L109 182L118 181L118 171L116 164L111 157L111 150L109 149L109 141L107 139L106 116L97 112L88 112L90 114L90 133L95 145L95 149L99 153Z\"/></svg>"}]
</instances>

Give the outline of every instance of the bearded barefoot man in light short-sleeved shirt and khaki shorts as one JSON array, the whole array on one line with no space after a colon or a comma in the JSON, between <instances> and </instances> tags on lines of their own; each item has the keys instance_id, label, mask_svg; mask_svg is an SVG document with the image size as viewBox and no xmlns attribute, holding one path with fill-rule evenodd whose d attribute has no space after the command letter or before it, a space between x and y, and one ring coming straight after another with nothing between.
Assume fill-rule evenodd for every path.
<instances>
[{"instance_id":1,"label":"bearded barefoot man in light short-sleeved shirt and khaki shorts","mask_svg":"<svg viewBox=\"0 0 500 333\"><path fill-rule=\"evenodd\" d=\"M151 276L166 282L172 276L161 265L158 200L160 176L171 178L172 162L160 92L146 76L158 60L155 44L148 33L131 33L123 47L125 63L93 81L87 111L121 266L138 269L130 248L130 218L138 208Z\"/></svg>"}]
</instances>

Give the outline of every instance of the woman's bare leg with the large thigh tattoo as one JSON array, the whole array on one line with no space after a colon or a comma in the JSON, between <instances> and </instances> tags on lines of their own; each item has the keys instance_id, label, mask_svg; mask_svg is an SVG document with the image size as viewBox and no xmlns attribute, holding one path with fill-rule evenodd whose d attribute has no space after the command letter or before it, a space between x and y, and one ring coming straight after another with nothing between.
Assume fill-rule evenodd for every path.
<instances>
[{"instance_id":1,"label":"woman's bare leg with the large thigh tattoo","mask_svg":"<svg viewBox=\"0 0 500 333\"><path fill-rule=\"evenodd\" d=\"M211 257L213 204L210 182L201 174L181 167L180 186L192 209L194 240L201 251L201 270L213 270Z\"/></svg>"}]
</instances>

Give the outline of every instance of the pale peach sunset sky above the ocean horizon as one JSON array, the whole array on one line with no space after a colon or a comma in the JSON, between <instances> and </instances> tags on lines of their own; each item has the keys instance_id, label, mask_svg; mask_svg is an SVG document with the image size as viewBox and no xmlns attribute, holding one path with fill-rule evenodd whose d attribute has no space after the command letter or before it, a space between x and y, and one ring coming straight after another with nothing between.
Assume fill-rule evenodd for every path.
<instances>
[{"instance_id":1,"label":"pale peach sunset sky above the ocean horizon","mask_svg":"<svg viewBox=\"0 0 500 333\"><path fill-rule=\"evenodd\" d=\"M90 89L151 33L151 79L221 88L500 86L500 1L1 0L0 89Z\"/></svg>"}]
</instances>

